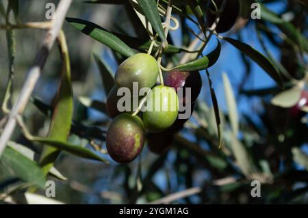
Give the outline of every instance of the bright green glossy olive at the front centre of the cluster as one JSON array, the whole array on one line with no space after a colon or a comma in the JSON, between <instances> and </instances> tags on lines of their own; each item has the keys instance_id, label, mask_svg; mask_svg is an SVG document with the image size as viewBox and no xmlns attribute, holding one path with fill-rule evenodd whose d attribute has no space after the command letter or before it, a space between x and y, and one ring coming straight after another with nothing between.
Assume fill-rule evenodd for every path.
<instances>
[{"instance_id":1,"label":"bright green glossy olive at the front centre of the cluster","mask_svg":"<svg viewBox=\"0 0 308 218\"><path fill-rule=\"evenodd\" d=\"M166 130L177 120L179 99L172 87L153 87L146 100L143 122L146 130L158 133Z\"/></svg>"}]
</instances>

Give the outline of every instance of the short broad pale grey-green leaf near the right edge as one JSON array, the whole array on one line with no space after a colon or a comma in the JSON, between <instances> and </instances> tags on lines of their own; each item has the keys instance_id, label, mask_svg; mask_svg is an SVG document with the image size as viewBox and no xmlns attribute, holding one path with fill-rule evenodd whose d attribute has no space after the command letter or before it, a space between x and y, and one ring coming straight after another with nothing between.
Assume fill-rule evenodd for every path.
<instances>
[{"instance_id":1,"label":"short broad pale grey-green leaf near the right edge","mask_svg":"<svg viewBox=\"0 0 308 218\"><path fill-rule=\"evenodd\" d=\"M272 105L276 105L279 107L292 107L296 105L296 103L298 103L302 92L303 88L296 85L289 90L285 90L277 94L277 96L274 96L274 98L272 98L270 102L272 103Z\"/></svg>"}]
</instances>

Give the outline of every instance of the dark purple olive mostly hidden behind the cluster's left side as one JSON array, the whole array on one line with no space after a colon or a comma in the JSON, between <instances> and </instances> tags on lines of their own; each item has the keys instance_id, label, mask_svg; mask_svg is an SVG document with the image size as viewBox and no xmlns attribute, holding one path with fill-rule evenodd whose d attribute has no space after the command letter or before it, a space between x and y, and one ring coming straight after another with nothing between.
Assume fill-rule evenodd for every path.
<instances>
[{"instance_id":1,"label":"dark purple olive mostly hidden behind the cluster's left side","mask_svg":"<svg viewBox=\"0 0 308 218\"><path fill-rule=\"evenodd\" d=\"M110 93L107 96L106 109L107 113L110 115L110 118L115 118L117 115L123 112L131 113L133 111L136 111L139 105L139 96L131 96L129 97L129 99L126 99L127 103L129 102L130 104L130 109L120 112L118 109L118 100L120 100L120 98L123 98L123 96L118 96L117 92L118 88L114 86L112 87L112 90L110 90ZM133 105L134 100L136 101L135 105Z\"/></svg>"}]
</instances>

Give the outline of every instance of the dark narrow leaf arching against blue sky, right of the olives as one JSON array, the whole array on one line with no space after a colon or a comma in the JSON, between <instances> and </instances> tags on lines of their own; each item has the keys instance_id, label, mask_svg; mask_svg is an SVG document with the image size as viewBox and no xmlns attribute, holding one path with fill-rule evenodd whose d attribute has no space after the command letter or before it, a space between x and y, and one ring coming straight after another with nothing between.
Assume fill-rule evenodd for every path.
<instances>
[{"instance_id":1,"label":"dark narrow leaf arching against blue sky, right of the olives","mask_svg":"<svg viewBox=\"0 0 308 218\"><path fill-rule=\"evenodd\" d=\"M280 86L283 86L279 72L277 72L276 68L274 68L272 62L270 62L267 57L259 53L259 51L253 49L253 47L251 47L250 45L245 44L244 42L240 42L232 38L224 38L224 40L235 46L235 48L239 49L242 53L244 53L251 59L253 59L253 61L256 62L262 69L264 69L264 71L266 71L268 75L270 75L270 77L274 79L274 81L276 81Z\"/></svg>"}]
</instances>

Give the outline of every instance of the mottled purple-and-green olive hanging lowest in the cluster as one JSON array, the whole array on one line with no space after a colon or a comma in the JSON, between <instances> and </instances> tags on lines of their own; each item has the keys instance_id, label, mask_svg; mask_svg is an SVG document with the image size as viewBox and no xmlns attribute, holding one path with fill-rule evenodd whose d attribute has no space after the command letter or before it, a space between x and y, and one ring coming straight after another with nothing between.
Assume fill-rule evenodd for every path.
<instances>
[{"instance_id":1,"label":"mottled purple-and-green olive hanging lowest in the cluster","mask_svg":"<svg viewBox=\"0 0 308 218\"><path fill-rule=\"evenodd\" d=\"M136 159L144 146L144 125L138 116L121 113L112 120L107 130L107 151L118 163Z\"/></svg>"}]
</instances>

